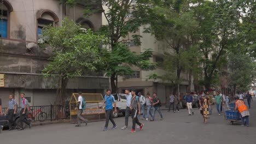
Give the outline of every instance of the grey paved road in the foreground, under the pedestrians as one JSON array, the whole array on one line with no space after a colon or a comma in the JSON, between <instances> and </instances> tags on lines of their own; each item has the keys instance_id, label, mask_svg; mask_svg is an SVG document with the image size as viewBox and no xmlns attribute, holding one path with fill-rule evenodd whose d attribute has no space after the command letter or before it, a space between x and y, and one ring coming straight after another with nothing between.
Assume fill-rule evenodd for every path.
<instances>
[{"instance_id":1,"label":"grey paved road in the foreground, under the pedestrians","mask_svg":"<svg viewBox=\"0 0 256 144\"><path fill-rule=\"evenodd\" d=\"M164 121L159 121L157 113L155 122L144 122L144 129L136 133L130 133L131 119L129 119L129 130L121 130L124 117L119 117L114 119L118 124L118 129L115 130L102 131L104 122L89 123L87 127L74 127L74 124L67 123L52 124L24 131L5 130L0 134L0 142L1 144L255 143L256 99L254 101L250 110L250 127L241 127L240 124L229 125L224 121L223 116L217 115L216 109L213 109L208 124L203 124L199 110L194 109L194 116L188 116L187 110L181 110L179 113L162 111ZM112 127L111 123L109 123L110 127Z\"/></svg>"}]
</instances>

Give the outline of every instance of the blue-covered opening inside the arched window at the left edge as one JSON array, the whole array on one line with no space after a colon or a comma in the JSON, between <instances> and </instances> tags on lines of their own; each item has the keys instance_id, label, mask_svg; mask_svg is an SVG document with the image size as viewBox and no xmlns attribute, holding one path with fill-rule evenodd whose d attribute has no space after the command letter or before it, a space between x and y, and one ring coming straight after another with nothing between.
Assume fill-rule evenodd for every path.
<instances>
[{"instance_id":1,"label":"blue-covered opening inside the arched window at the left edge","mask_svg":"<svg viewBox=\"0 0 256 144\"><path fill-rule=\"evenodd\" d=\"M8 10L5 5L0 4L0 38L7 38L8 35Z\"/></svg>"}]
</instances>

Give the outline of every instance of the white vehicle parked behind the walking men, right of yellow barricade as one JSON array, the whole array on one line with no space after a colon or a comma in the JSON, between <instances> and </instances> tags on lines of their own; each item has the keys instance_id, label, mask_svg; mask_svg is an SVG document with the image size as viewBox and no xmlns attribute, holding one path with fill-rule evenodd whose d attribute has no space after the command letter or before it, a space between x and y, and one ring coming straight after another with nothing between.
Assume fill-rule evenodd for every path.
<instances>
[{"instance_id":1,"label":"white vehicle parked behind the walking men, right of yellow barricade","mask_svg":"<svg viewBox=\"0 0 256 144\"><path fill-rule=\"evenodd\" d=\"M115 103L117 104L117 113L115 113L113 111L112 116L114 118L117 118L119 115L121 115L121 113L123 113L123 115L125 115L125 109L126 109L126 94L123 93L114 93L112 94L115 98ZM114 110L114 108L113 108Z\"/></svg>"}]
</instances>

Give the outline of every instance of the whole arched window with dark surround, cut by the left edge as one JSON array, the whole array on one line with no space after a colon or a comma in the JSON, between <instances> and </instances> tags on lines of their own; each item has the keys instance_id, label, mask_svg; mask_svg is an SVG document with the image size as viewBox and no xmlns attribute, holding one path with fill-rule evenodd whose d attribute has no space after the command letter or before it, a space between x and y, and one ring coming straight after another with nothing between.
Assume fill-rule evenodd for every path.
<instances>
[{"instance_id":1,"label":"whole arched window with dark surround, cut by the left edge","mask_svg":"<svg viewBox=\"0 0 256 144\"><path fill-rule=\"evenodd\" d=\"M9 15L13 7L8 1L2 0L2 2L0 3L0 38L8 38Z\"/></svg>"}]
</instances>

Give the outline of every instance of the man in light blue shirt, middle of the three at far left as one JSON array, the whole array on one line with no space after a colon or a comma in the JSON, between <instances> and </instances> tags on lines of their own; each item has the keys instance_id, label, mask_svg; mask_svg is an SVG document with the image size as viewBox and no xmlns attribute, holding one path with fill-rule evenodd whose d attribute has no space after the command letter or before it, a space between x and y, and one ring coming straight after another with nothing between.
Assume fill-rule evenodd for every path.
<instances>
[{"instance_id":1,"label":"man in light blue shirt, middle of the three at far left","mask_svg":"<svg viewBox=\"0 0 256 144\"><path fill-rule=\"evenodd\" d=\"M9 122L9 130L13 130L13 126L16 125L16 123L13 121L13 117L16 115L17 110L17 102L15 99L13 99L13 95L9 95L9 106L5 113L8 113L8 122Z\"/></svg>"}]
</instances>

